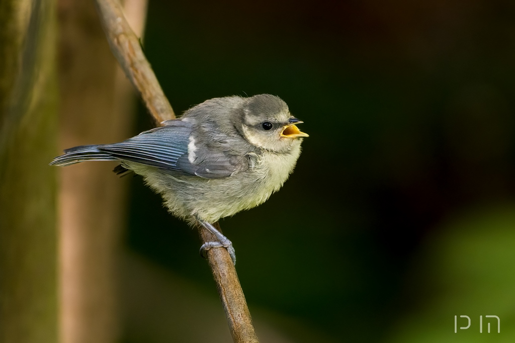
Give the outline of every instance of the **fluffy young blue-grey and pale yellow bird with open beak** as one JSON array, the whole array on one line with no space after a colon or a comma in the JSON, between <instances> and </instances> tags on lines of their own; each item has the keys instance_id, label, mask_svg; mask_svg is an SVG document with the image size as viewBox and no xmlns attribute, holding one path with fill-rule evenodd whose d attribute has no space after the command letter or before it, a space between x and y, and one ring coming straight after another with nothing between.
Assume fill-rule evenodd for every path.
<instances>
[{"instance_id":1,"label":"fluffy young blue-grey and pale yellow bird with open beak","mask_svg":"<svg viewBox=\"0 0 515 343\"><path fill-rule=\"evenodd\" d=\"M277 192L293 172L307 133L278 96L227 96L206 100L177 119L123 142L64 150L50 165L119 161L114 172L141 175L168 211L213 233L201 255L232 242L213 224L254 208Z\"/></svg>"}]
</instances>

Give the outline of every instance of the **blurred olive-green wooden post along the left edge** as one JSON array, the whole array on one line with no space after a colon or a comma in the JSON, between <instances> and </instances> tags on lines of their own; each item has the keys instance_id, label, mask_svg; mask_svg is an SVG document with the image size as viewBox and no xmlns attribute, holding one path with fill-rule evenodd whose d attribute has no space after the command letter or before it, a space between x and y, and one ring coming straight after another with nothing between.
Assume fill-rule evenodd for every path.
<instances>
[{"instance_id":1,"label":"blurred olive-green wooden post along the left edge","mask_svg":"<svg viewBox=\"0 0 515 343\"><path fill-rule=\"evenodd\" d=\"M0 1L0 342L58 340L54 0Z\"/></svg>"}]
</instances>

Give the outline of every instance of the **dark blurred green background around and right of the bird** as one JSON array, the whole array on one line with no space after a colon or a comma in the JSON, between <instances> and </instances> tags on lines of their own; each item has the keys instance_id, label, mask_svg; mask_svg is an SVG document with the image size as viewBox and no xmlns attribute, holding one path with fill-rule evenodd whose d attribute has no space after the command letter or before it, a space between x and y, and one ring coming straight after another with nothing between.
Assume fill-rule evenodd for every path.
<instances>
[{"instance_id":1,"label":"dark blurred green background around and right of the bird","mask_svg":"<svg viewBox=\"0 0 515 343\"><path fill-rule=\"evenodd\" d=\"M149 2L144 49L176 113L270 93L310 134L279 193L220 222L251 313L298 342L515 338L514 14L485 0ZM140 105L134 133L150 127ZM197 233L130 184L125 244L216 300ZM455 315L471 328L455 334ZM479 334L479 315L500 316L501 334L485 317Z\"/></svg>"}]
</instances>

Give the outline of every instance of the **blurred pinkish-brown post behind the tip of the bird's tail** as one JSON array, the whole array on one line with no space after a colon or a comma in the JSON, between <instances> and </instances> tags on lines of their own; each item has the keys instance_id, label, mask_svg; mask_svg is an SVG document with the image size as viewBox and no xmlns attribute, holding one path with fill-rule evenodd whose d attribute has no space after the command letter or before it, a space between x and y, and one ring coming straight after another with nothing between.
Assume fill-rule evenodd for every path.
<instances>
[{"instance_id":1,"label":"blurred pinkish-brown post behind the tip of the bird's tail","mask_svg":"<svg viewBox=\"0 0 515 343\"><path fill-rule=\"evenodd\" d=\"M140 8L131 18L141 32L146 0L126 4L134 2ZM110 52L94 3L59 0L59 20L61 149L127 139L135 92ZM115 177L115 165L58 168L62 343L120 338L116 273L128 179Z\"/></svg>"}]
</instances>

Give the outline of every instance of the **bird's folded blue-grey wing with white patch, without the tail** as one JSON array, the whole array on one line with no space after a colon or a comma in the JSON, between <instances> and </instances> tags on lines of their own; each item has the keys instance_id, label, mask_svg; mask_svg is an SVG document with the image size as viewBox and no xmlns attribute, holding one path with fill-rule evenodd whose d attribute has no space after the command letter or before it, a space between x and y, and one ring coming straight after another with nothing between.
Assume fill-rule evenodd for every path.
<instances>
[{"instance_id":1,"label":"bird's folded blue-grey wing with white patch, without the tail","mask_svg":"<svg viewBox=\"0 0 515 343\"><path fill-rule=\"evenodd\" d=\"M209 179L228 177L248 168L247 157L235 153L224 135L211 140L199 135L195 139L189 122L177 119L165 125L98 149L119 160Z\"/></svg>"}]
</instances>

